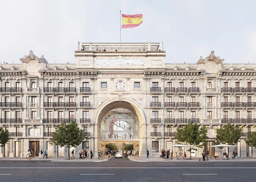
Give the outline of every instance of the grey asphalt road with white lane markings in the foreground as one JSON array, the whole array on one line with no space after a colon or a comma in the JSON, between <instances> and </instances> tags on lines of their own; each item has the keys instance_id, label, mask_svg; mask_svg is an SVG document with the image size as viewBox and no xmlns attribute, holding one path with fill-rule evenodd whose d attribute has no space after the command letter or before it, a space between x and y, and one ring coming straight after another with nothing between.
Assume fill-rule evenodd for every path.
<instances>
[{"instance_id":1,"label":"grey asphalt road with white lane markings in the foreground","mask_svg":"<svg viewBox=\"0 0 256 182\"><path fill-rule=\"evenodd\" d=\"M0 181L256 181L256 162L0 162Z\"/></svg>"}]
</instances>

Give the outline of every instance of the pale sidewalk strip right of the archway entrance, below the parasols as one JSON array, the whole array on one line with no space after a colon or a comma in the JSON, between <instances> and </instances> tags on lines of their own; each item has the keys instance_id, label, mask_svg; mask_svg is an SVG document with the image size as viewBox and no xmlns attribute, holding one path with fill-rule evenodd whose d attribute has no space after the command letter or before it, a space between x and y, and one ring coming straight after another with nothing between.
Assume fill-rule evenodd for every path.
<instances>
[{"instance_id":1,"label":"pale sidewalk strip right of the archway entrance, below the parasols","mask_svg":"<svg viewBox=\"0 0 256 182\"><path fill-rule=\"evenodd\" d=\"M169 159L159 159L159 157L133 157L133 156L129 156L128 157L131 161L135 161L135 162L256 162L256 157L238 157L238 161L234 161L234 160L221 160L221 159L212 159L209 161L202 161L202 158L199 157L192 157L192 159L190 160L190 158L186 158L185 160L175 160L175 158L173 160L169 160ZM199 159L201 161L199 161Z\"/></svg>"}]
</instances>

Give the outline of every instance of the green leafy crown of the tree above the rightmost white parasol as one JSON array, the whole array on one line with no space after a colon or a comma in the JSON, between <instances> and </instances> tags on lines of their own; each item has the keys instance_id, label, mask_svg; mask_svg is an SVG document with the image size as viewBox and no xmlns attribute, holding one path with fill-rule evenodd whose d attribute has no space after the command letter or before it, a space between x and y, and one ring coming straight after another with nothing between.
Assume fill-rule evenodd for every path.
<instances>
[{"instance_id":1,"label":"green leafy crown of the tree above the rightmost white parasol","mask_svg":"<svg viewBox=\"0 0 256 182\"><path fill-rule=\"evenodd\" d=\"M242 128L235 127L230 123L216 129L216 144L235 145L241 138Z\"/></svg>"}]
</instances>

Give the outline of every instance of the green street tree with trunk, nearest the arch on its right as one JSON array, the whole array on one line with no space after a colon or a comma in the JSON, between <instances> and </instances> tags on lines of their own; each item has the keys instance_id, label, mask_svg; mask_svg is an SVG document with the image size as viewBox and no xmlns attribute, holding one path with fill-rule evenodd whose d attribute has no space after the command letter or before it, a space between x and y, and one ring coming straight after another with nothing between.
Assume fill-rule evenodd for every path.
<instances>
[{"instance_id":1,"label":"green street tree with trunk, nearest the arch on its right","mask_svg":"<svg viewBox=\"0 0 256 182\"><path fill-rule=\"evenodd\" d=\"M195 147L203 148L204 143L206 142L207 137L207 130L206 127L203 126L199 128L199 125L186 124L183 128L177 128L175 132L175 138L177 139L176 143L185 142L188 145L191 145L190 149L190 159L191 159L191 151L197 150Z\"/></svg>"}]
</instances>

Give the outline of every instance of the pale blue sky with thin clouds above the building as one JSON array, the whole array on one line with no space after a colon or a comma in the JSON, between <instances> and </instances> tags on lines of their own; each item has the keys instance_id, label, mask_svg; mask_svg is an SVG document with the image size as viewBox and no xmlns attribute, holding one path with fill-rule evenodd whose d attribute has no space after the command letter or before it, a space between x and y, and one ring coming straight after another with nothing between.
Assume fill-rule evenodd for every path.
<instances>
[{"instance_id":1,"label":"pale blue sky with thin clouds above the building","mask_svg":"<svg viewBox=\"0 0 256 182\"><path fill-rule=\"evenodd\" d=\"M0 61L44 55L75 63L77 42L119 42L120 10L143 14L122 42L161 42L165 63L196 63L211 51L223 63L256 63L253 0L1 0Z\"/></svg>"}]
</instances>

